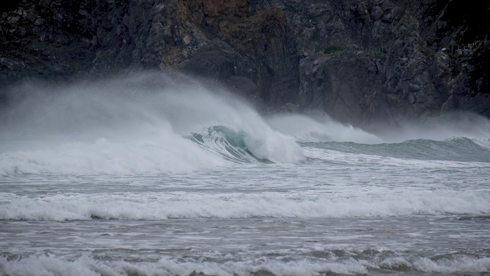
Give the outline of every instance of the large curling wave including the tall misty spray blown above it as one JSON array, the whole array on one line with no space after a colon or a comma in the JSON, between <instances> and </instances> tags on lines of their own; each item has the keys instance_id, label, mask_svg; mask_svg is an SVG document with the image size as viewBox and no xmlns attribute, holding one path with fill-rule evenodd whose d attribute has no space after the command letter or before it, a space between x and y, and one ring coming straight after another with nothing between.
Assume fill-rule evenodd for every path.
<instances>
[{"instance_id":1,"label":"large curling wave including the tall misty spray blown above it","mask_svg":"<svg viewBox=\"0 0 490 276\"><path fill-rule=\"evenodd\" d=\"M294 139L244 102L166 78L25 88L0 114L0 175L159 174L230 160L302 160Z\"/></svg>"}]
</instances>

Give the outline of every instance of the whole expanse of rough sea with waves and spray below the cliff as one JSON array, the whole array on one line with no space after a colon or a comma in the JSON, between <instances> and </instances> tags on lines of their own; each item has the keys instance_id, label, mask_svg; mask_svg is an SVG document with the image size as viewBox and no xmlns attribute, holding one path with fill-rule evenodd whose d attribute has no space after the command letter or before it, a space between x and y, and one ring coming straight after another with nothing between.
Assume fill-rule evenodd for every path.
<instances>
[{"instance_id":1,"label":"whole expanse of rough sea with waves and spray below the cliff","mask_svg":"<svg viewBox=\"0 0 490 276\"><path fill-rule=\"evenodd\" d=\"M21 90L0 275L490 275L487 119L375 135L155 75Z\"/></svg>"}]
</instances>

